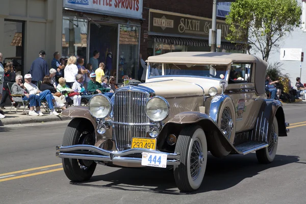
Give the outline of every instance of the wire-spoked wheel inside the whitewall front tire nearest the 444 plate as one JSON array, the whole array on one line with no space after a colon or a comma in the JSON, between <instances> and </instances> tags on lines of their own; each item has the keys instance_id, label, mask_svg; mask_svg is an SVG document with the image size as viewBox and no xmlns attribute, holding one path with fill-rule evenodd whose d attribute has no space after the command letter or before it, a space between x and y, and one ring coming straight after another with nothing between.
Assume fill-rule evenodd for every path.
<instances>
[{"instance_id":1,"label":"wire-spoked wheel inside the whitewall front tire nearest the 444 plate","mask_svg":"<svg viewBox=\"0 0 306 204\"><path fill-rule=\"evenodd\" d=\"M190 155L190 173L192 180L196 180L200 173L201 166L204 160L202 145L198 138L194 140L191 151L192 152Z\"/></svg>"}]
</instances>

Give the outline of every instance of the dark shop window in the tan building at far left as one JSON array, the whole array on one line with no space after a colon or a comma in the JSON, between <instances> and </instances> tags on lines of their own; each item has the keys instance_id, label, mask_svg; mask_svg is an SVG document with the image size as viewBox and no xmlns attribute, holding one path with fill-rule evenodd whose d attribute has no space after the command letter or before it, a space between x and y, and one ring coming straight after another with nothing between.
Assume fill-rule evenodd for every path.
<instances>
[{"instance_id":1,"label":"dark shop window in the tan building at far left","mask_svg":"<svg viewBox=\"0 0 306 204\"><path fill-rule=\"evenodd\" d=\"M3 64L13 62L16 74L23 74L24 22L4 21Z\"/></svg>"}]
</instances>

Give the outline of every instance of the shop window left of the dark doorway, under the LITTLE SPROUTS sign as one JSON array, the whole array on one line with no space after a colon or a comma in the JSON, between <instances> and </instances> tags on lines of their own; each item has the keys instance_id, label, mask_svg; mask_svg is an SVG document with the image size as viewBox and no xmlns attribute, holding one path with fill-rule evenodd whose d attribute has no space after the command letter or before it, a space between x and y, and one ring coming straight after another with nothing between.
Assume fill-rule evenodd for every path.
<instances>
[{"instance_id":1,"label":"shop window left of the dark doorway, under the LITTLE SPROUTS sign","mask_svg":"<svg viewBox=\"0 0 306 204\"><path fill-rule=\"evenodd\" d=\"M87 63L88 20L63 17L62 57L79 56Z\"/></svg>"}]
</instances>

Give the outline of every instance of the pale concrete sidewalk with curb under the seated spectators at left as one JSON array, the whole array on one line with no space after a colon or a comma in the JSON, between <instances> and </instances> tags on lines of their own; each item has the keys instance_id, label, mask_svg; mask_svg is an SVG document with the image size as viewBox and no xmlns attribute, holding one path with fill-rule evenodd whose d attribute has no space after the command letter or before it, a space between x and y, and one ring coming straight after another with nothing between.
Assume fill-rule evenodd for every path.
<instances>
[{"instance_id":1,"label":"pale concrete sidewalk with curb under the seated spectators at left","mask_svg":"<svg viewBox=\"0 0 306 204\"><path fill-rule=\"evenodd\" d=\"M63 121L63 120L71 120L69 117L63 117L61 115L55 116L55 115L49 115L48 112L45 112L43 108L41 108L41 112L44 114L44 116L29 116L25 113L22 113L23 106L21 106L17 113L15 113L14 106L12 108L11 113L10 112L10 106L6 106L6 109L1 109L0 111L3 111L5 114L4 119L0 119L0 126L4 125L11 125L11 124L26 124L26 123L34 123L34 122L52 122L52 121ZM29 109L25 109L27 113L29 113Z\"/></svg>"}]
</instances>

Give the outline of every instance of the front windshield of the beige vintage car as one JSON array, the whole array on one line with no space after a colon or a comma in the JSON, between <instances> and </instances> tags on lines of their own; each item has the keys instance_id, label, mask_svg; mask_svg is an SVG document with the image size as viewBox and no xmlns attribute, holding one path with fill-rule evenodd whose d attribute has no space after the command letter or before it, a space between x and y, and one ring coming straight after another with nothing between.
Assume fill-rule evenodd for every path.
<instances>
[{"instance_id":1,"label":"front windshield of the beige vintage car","mask_svg":"<svg viewBox=\"0 0 306 204\"><path fill-rule=\"evenodd\" d=\"M172 64L172 63L150 63L148 78L163 76L192 76L225 79L227 65L212 64Z\"/></svg>"}]
</instances>

